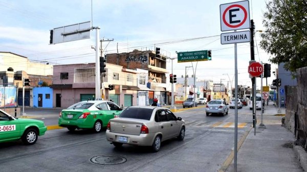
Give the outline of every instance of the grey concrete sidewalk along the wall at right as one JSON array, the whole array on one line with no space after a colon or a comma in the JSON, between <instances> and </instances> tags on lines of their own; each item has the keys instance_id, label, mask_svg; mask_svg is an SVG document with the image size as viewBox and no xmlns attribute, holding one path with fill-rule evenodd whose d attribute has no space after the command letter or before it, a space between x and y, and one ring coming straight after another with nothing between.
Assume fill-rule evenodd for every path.
<instances>
[{"instance_id":1,"label":"grey concrete sidewalk along the wall at right","mask_svg":"<svg viewBox=\"0 0 307 172\"><path fill-rule=\"evenodd\" d=\"M281 126L281 118L285 109L279 108L270 103L264 113L264 126L260 124L260 112L257 111L256 133L252 128L243 144L238 143L237 171L240 172L259 172L259 171L278 171L278 172L302 172L307 164L307 153L301 151L298 155L297 147L293 146L296 140L294 134ZM259 116L258 116L259 115ZM255 135L256 134L256 135ZM293 148L295 147L295 148ZM226 170L234 171L233 160Z\"/></svg>"}]
</instances>

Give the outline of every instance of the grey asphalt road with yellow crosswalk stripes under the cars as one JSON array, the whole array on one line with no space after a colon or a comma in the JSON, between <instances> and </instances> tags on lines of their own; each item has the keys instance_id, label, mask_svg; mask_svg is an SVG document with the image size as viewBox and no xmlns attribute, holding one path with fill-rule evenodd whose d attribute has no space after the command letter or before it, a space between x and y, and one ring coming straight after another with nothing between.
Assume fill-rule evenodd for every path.
<instances>
[{"instance_id":1,"label":"grey asphalt road with yellow crosswalk stripes under the cars","mask_svg":"<svg viewBox=\"0 0 307 172\"><path fill-rule=\"evenodd\" d=\"M46 125L57 124L57 110L50 110L53 115L44 111L45 116L36 117ZM163 142L157 153L133 145L116 149L104 131L64 128L47 131L30 146L21 141L0 143L1 171L217 171L233 150L234 109L226 116L206 116L204 110L200 106L175 112L186 121L185 139ZM249 108L238 109L238 140L251 129L251 122Z\"/></svg>"}]
</instances>

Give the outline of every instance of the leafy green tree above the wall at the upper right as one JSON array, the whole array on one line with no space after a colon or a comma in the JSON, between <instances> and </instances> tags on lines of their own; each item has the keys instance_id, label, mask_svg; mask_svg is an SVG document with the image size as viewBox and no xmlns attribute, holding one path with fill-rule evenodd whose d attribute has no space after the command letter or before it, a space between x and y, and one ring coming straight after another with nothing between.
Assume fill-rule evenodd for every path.
<instances>
[{"instance_id":1,"label":"leafy green tree above the wall at the upper right","mask_svg":"<svg viewBox=\"0 0 307 172\"><path fill-rule=\"evenodd\" d=\"M306 0L272 0L264 13L260 46L272 56L269 61L285 63L292 73L307 66L307 2Z\"/></svg>"}]
</instances>

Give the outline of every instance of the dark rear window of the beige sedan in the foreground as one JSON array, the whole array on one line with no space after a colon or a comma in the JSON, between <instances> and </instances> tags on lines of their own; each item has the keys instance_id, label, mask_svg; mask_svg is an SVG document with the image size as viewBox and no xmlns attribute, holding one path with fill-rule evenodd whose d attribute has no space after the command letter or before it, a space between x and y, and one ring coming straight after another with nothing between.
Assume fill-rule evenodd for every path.
<instances>
[{"instance_id":1,"label":"dark rear window of the beige sedan in the foreground","mask_svg":"<svg viewBox=\"0 0 307 172\"><path fill-rule=\"evenodd\" d=\"M149 120L153 109L126 108L119 117Z\"/></svg>"}]
</instances>

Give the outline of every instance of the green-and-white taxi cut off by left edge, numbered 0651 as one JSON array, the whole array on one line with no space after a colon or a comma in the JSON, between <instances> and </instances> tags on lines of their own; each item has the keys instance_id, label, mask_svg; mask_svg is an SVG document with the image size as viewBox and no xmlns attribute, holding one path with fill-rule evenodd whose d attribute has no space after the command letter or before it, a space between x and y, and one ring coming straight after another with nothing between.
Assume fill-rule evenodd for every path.
<instances>
[{"instance_id":1,"label":"green-and-white taxi cut off by left edge, numbered 0651","mask_svg":"<svg viewBox=\"0 0 307 172\"><path fill-rule=\"evenodd\" d=\"M41 120L16 118L0 109L0 143L21 139L24 144L34 144L46 131Z\"/></svg>"}]
</instances>

